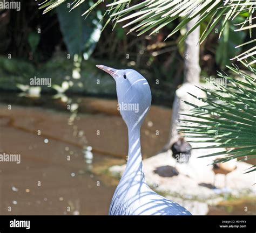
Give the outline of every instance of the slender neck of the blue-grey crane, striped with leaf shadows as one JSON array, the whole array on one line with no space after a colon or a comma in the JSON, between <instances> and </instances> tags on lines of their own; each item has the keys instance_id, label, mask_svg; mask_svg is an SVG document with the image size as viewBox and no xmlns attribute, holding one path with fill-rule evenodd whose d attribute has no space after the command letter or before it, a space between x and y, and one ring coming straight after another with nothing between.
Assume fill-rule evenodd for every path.
<instances>
[{"instance_id":1,"label":"slender neck of the blue-grey crane, striped with leaf shadows","mask_svg":"<svg viewBox=\"0 0 256 233\"><path fill-rule=\"evenodd\" d=\"M124 176L134 181L143 181L142 152L140 150L140 126L128 129L129 152Z\"/></svg>"}]
</instances>

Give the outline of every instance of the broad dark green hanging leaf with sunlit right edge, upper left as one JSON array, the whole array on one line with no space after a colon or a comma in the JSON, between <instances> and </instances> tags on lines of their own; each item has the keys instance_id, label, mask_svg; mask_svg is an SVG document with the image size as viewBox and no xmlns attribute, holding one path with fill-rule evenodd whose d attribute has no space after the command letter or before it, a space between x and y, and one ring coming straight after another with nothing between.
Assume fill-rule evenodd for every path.
<instances>
[{"instance_id":1,"label":"broad dark green hanging leaf with sunlit right edge, upper left","mask_svg":"<svg viewBox=\"0 0 256 233\"><path fill-rule=\"evenodd\" d=\"M100 38L102 24L101 12L92 12L86 19L81 17L82 13L89 8L89 2L86 1L80 8L69 12L68 5L62 4L57 8L57 15L65 44L71 55L83 54L87 60L93 52Z\"/></svg>"}]
</instances>

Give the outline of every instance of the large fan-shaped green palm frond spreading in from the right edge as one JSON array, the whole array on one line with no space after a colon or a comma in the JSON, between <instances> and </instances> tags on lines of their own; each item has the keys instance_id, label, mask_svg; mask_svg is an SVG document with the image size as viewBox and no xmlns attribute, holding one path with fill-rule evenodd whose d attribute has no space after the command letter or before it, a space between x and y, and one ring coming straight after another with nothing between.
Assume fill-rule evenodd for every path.
<instances>
[{"instance_id":1,"label":"large fan-shaped green palm frond spreading in from the right edge","mask_svg":"<svg viewBox=\"0 0 256 233\"><path fill-rule=\"evenodd\" d=\"M255 59L255 58L254 58ZM204 103L203 106L185 102L193 107L191 114L183 114L193 119L183 119L187 126L181 125L178 131L186 134L185 137L193 138L187 142L214 143L212 146L194 147L193 149L224 148L221 152L207 154L202 157L224 156L215 163L225 162L231 159L256 157L256 87L255 77L242 72L236 66L228 66L228 69L239 79L234 79L227 74L219 73L220 79L216 80L216 90L198 87L206 94L206 98L200 98L190 94ZM249 67L250 72L255 69ZM232 148L232 149L231 149ZM256 171L252 166L248 172Z\"/></svg>"}]
</instances>

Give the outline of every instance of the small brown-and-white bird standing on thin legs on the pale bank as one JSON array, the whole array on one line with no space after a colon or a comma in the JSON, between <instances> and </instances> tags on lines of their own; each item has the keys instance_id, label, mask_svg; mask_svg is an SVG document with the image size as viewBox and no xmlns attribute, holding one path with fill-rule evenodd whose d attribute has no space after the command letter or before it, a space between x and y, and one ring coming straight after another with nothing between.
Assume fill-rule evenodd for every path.
<instances>
[{"instance_id":1,"label":"small brown-and-white bird standing on thin legs on the pale bank","mask_svg":"<svg viewBox=\"0 0 256 233\"><path fill-rule=\"evenodd\" d=\"M219 158L215 159L214 161L217 161ZM213 185L215 186L216 181L216 175L217 174L224 174L225 175L225 185L224 187L227 187L227 174L230 172L233 172L235 169L237 169L237 161L232 159L230 161L227 161L225 163L217 163L213 164L212 171L214 172L214 182ZM216 186L215 186L216 187Z\"/></svg>"}]
</instances>

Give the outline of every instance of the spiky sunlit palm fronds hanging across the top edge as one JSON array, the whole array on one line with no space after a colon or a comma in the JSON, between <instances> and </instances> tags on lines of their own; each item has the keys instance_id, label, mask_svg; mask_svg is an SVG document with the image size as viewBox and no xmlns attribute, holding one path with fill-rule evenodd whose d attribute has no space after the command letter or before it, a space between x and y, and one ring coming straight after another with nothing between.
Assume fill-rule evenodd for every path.
<instances>
[{"instance_id":1,"label":"spiky sunlit palm fronds hanging across the top edge","mask_svg":"<svg viewBox=\"0 0 256 233\"><path fill-rule=\"evenodd\" d=\"M63 2L65 2L65 0L46 0L42 4L41 9L45 8L44 13L46 13ZM72 9L75 9L80 4L85 4L86 2L87 1L85 0L73 0L73 3L75 4ZM85 10L83 15L90 13L92 9L101 2L103 1L98 0L95 4L92 4L89 9ZM112 21L114 22L114 26L116 26L119 22L128 21L124 27L133 25L130 32L136 31L138 36L140 36L149 31L151 31L150 34L153 34L173 22L173 20L181 17L182 20L179 25L172 30L169 36L167 36L167 38L169 38L174 33L180 31L180 29L182 29L182 27L191 19L200 15L198 22L183 37L184 40L198 25L201 25L210 19L206 29L200 37L200 43L203 43L208 34L222 22L220 26L220 38L224 33L225 25L227 23L231 25L232 20L239 15L245 16L245 18L242 23L237 25L239 26L239 29L236 29L235 31L249 30L250 37L252 38L252 29L256 26L256 24L253 23L255 17L252 17L256 8L256 2L254 0L144 0L142 2L136 2L136 4L132 6L130 5L131 3L131 0L114 0L112 3L108 4L108 9L105 13L105 15L109 15L107 23ZM251 40L246 44L252 46L254 42L255 40ZM244 45L245 44L242 44L240 46ZM250 57L254 54L255 48L251 47L244 53L236 56L235 59L239 61L243 60L247 65L252 65L255 61L251 60Z\"/></svg>"}]
</instances>

